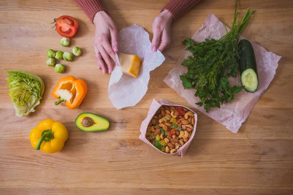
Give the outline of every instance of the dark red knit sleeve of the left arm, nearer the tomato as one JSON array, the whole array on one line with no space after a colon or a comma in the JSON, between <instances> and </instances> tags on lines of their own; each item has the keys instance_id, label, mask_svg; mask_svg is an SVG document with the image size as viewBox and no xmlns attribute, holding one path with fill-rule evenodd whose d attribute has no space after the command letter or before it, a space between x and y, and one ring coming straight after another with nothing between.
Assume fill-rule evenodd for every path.
<instances>
[{"instance_id":1,"label":"dark red knit sleeve of the left arm, nearer the tomato","mask_svg":"<svg viewBox=\"0 0 293 195\"><path fill-rule=\"evenodd\" d=\"M94 16L98 11L105 11L102 0L75 0L75 2L91 21L93 21Z\"/></svg>"}]
</instances>

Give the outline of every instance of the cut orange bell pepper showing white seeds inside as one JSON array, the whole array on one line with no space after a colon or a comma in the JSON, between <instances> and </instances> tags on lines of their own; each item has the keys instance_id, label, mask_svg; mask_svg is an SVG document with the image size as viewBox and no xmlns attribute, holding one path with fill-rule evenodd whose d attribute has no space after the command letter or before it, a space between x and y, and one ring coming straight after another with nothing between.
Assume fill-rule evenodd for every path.
<instances>
[{"instance_id":1,"label":"cut orange bell pepper showing white seeds inside","mask_svg":"<svg viewBox=\"0 0 293 195\"><path fill-rule=\"evenodd\" d=\"M53 90L53 97L59 99L55 105L65 101L69 109L78 108L87 92L87 85L82 79L76 79L73 76L60 78Z\"/></svg>"}]
</instances>

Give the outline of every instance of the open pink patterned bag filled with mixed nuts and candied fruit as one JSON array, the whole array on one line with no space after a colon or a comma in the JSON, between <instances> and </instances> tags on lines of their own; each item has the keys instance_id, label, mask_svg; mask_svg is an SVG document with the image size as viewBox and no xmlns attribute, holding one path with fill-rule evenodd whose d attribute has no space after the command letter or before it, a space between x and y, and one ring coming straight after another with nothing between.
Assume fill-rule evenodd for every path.
<instances>
[{"instance_id":1,"label":"open pink patterned bag filled with mixed nuts and candied fruit","mask_svg":"<svg viewBox=\"0 0 293 195\"><path fill-rule=\"evenodd\" d=\"M196 123L197 115L189 108L153 99L139 138L161 153L183 157L194 137Z\"/></svg>"}]
</instances>

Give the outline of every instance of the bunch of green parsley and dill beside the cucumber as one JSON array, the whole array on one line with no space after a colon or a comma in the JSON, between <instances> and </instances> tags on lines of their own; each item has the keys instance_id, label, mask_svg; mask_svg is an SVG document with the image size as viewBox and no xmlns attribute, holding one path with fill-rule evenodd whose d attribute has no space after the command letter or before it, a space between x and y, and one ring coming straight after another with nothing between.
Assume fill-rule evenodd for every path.
<instances>
[{"instance_id":1,"label":"bunch of green parsley and dill beside the cucumber","mask_svg":"<svg viewBox=\"0 0 293 195\"><path fill-rule=\"evenodd\" d=\"M188 67L188 72L181 75L184 88L196 89L195 96L200 98L196 104L203 106L207 112L210 107L218 107L224 102L234 99L234 94L239 93L243 86L231 86L228 78L236 77L238 72L238 39L240 33L251 18L255 10L248 8L241 22L236 25L238 16L237 2L235 6L234 20L230 32L219 40L206 39L204 42L196 42L192 39L183 41L187 45L186 50L193 53L181 65Z\"/></svg>"}]
</instances>

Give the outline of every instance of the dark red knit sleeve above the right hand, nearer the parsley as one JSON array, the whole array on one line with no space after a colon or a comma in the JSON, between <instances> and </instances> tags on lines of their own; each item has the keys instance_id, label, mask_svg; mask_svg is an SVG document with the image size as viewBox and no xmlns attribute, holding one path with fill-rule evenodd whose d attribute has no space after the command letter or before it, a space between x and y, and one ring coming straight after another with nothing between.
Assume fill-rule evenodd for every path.
<instances>
[{"instance_id":1,"label":"dark red knit sleeve above the right hand, nearer the parsley","mask_svg":"<svg viewBox=\"0 0 293 195\"><path fill-rule=\"evenodd\" d=\"M201 0L170 0L161 12L167 9L172 13L174 20L176 20L180 15L186 13L200 1Z\"/></svg>"}]
</instances>

